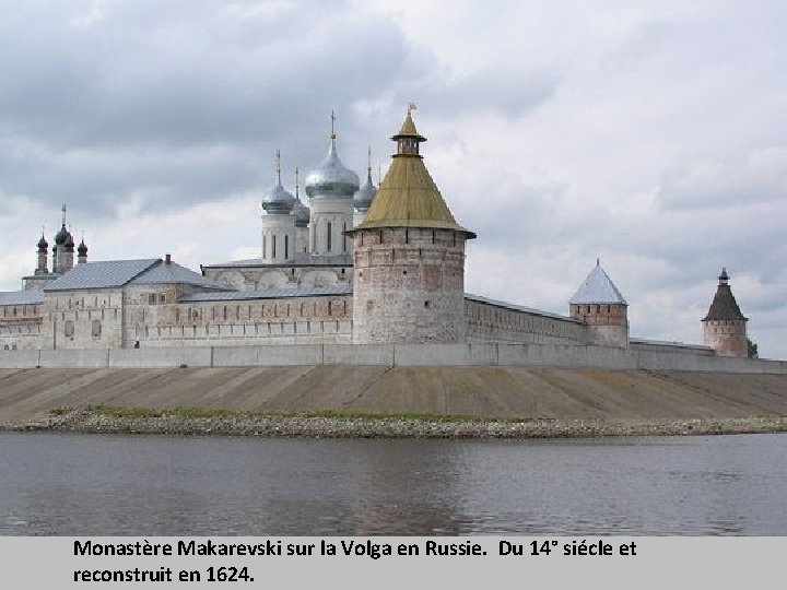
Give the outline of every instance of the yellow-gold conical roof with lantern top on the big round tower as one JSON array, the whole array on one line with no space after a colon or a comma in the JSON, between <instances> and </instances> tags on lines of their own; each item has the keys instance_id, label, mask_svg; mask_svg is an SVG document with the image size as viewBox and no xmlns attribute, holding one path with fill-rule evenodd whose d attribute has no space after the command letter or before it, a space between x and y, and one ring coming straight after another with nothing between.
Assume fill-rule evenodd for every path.
<instances>
[{"instance_id":1,"label":"yellow-gold conical roof with lantern top on the big round tower","mask_svg":"<svg viewBox=\"0 0 787 590\"><path fill-rule=\"evenodd\" d=\"M408 109L399 133L391 138L397 142L397 153L364 222L348 231L348 234L376 227L423 227L455 229L463 232L468 238L474 238L474 233L456 222L424 166L419 144L426 138L415 129L412 108L413 105Z\"/></svg>"}]
</instances>

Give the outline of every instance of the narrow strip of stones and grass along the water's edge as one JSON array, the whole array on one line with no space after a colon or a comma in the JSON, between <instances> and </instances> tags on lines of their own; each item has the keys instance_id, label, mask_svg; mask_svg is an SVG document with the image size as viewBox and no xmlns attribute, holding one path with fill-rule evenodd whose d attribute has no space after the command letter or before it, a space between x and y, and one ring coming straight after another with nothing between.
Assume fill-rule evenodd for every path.
<instances>
[{"instance_id":1,"label":"narrow strip of stones and grass along the water's edge","mask_svg":"<svg viewBox=\"0 0 787 590\"><path fill-rule=\"evenodd\" d=\"M471 416L308 415L216 412L188 415L184 409L82 406L36 420L0 425L9 432L258 436L268 438L528 439L629 436L697 436L787 432L786 416L739 418L475 418Z\"/></svg>"}]
</instances>

